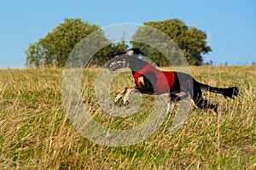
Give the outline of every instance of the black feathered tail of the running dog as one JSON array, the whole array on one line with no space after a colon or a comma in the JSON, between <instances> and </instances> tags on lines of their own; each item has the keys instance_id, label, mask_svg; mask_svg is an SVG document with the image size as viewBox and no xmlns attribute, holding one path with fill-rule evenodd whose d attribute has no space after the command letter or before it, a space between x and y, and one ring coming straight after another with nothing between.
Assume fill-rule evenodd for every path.
<instances>
[{"instance_id":1,"label":"black feathered tail of the running dog","mask_svg":"<svg viewBox=\"0 0 256 170\"><path fill-rule=\"evenodd\" d=\"M233 98L234 96L237 96L239 94L239 88L236 86L231 88L215 88L207 84L203 84L201 82L199 82L199 84L201 89L204 89L216 94L222 94L224 98Z\"/></svg>"}]
</instances>

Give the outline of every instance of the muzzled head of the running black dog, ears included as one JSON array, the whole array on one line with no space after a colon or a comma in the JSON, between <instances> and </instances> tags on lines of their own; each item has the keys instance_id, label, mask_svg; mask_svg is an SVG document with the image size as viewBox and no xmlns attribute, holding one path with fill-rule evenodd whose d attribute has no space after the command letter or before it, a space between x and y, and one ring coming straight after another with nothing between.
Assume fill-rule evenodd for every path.
<instances>
[{"instance_id":1,"label":"muzzled head of the running black dog, ears included","mask_svg":"<svg viewBox=\"0 0 256 170\"><path fill-rule=\"evenodd\" d=\"M109 71L118 71L121 68L128 67L130 59L139 56L140 54L144 55L140 49L131 48L125 51L124 53L118 54L115 58L108 61L108 70Z\"/></svg>"}]
</instances>

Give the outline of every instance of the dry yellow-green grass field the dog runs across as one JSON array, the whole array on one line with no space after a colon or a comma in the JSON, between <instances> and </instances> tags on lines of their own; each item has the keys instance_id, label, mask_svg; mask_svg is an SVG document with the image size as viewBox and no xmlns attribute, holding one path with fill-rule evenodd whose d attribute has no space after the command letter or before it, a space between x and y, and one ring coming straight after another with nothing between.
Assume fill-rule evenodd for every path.
<instances>
[{"instance_id":1,"label":"dry yellow-green grass field the dog runs across","mask_svg":"<svg viewBox=\"0 0 256 170\"><path fill-rule=\"evenodd\" d=\"M62 70L0 70L0 169L256 169L256 66L201 66L191 71L212 86L236 85L241 95L224 99L205 93L219 104L218 116L193 108L177 133L170 133L171 115L147 140L108 147L84 138L68 119L61 103ZM90 92L84 105L97 121L112 128L143 122L150 96L143 97L137 114L111 117L97 105L96 73L84 71L82 91ZM113 95L133 85L131 78L130 73L117 77Z\"/></svg>"}]
</instances>

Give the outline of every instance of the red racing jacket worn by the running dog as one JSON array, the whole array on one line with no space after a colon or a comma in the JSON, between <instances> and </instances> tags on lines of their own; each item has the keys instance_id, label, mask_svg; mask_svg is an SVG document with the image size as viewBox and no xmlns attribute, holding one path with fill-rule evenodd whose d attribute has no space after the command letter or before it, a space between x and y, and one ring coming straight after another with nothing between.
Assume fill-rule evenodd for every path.
<instances>
[{"instance_id":1,"label":"red racing jacket worn by the running dog","mask_svg":"<svg viewBox=\"0 0 256 170\"><path fill-rule=\"evenodd\" d=\"M165 94L170 91L174 82L174 72L172 71L160 71L155 68L153 65L146 65L143 67L142 70L136 71L133 74L133 78L138 87L142 88L141 83L138 80L138 77L145 74L146 72L152 71L154 72L155 76L157 77L157 81L155 82L154 86L154 93L155 94ZM150 81L150 80L149 80Z\"/></svg>"}]
</instances>

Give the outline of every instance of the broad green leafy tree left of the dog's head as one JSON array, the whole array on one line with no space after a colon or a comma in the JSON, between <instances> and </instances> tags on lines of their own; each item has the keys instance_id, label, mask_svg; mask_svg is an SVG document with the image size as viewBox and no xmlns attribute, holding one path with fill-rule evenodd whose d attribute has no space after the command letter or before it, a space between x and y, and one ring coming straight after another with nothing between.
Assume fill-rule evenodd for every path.
<instances>
[{"instance_id":1,"label":"broad green leafy tree left of the dog's head","mask_svg":"<svg viewBox=\"0 0 256 170\"><path fill-rule=\"evenodd\" d=\"M38 42L30 43L26 49L26 65L39 67L41 65L51 67L64 67L69 54L73 48L86 36L94 31L100 31L100 27L90 25L81 19L64 19L64 22L56 26L44 38L39 38ZM127 48L124 42L112 44L104 37L102 32L102 42L106 42L106 47L96 53L90 62L93 65L104 65L112 54L119 53ZM93 45L91 44L91 48ZM79 62L79 61L78 61Z\"/></svg>"}]
</instances>

